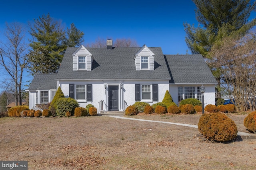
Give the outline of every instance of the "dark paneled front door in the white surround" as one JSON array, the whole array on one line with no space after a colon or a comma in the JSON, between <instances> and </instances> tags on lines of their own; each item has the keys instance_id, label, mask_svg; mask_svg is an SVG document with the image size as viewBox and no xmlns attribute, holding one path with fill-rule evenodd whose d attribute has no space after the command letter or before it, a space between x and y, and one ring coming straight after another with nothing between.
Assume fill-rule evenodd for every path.
<instances>
[{"instance_id":1,"label":"dark paneled front door in the white surround","mask_svg":"<svg viewBox=\"0 0 256 170\"><path fill-rule=\"evenodd\" d=\"M108 86L108 110L118 111L118 86Z\"/></svg>"}]
</instances>

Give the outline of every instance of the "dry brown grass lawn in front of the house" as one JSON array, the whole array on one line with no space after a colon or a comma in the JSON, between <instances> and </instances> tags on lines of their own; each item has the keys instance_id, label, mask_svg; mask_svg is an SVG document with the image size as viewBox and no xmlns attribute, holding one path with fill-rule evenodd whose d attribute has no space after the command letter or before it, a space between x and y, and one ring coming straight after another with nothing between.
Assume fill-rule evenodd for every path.
<instances>
[{"instance_id":1,"label":"dry brown grass lawn in front of the house","mask_svg":"<svg viewBox=\"0 0 256 170\"><path fill-rule=\"evenodd\" d=\"M246 115L229 115L246 131ZM197 125L196 115L138 115ZM0 160L29 170L205 170L256 167L256 140L199 142L192 127L112 117L0 118Z\"/></svg>"}]
</instances>

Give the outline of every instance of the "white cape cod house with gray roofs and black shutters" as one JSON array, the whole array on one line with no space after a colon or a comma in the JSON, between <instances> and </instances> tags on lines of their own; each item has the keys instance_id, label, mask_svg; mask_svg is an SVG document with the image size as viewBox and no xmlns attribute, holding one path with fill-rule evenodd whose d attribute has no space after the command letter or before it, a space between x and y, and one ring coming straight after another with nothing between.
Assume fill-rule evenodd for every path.
<instances>
[{"instance_id":1,"label":"white cape cod house with gray roofs and black shutters","mask_svg":"<svg viewBox=\"0 0 256 170\"><path fill-rule=\"evenodd\" d=\"M51 102L60 86L80 107L124 111L137 101L162 102L166 90L178 105L187 98L215 104L215 85L201 55L164 55L160 47L68 47L57 74L36 74L29 91L29 108Z\"/></svg>"}]
</instances>

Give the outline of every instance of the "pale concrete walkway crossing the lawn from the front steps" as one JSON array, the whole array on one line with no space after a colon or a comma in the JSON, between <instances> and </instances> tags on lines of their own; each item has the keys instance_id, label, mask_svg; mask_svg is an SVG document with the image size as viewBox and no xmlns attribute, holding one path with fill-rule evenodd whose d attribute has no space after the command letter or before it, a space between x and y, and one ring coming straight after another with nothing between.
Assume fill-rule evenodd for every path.
<instances>
[{"instance_id":1,"label":"pale concrete walkway crossing the lawn from the front steps","mask_svg":"<svg viewBox=\"0 0 256 170\"><path fill-rule=\"evenodd\" d=\"M118 119L136 120L136 121L149 121L149 122L157 122L157 123L167 123L167 124L172 124L172 125L181 125L181 126L188 126L188 127L198 128L197 125L189 125L189 124L184 124L184 123L173 123L173 122L167 122L167 121L155 121L155 120L146 120L146 119L135 119L135 118L123 117L123 116L109 116L109 117L114 117L114 118L118 118ZM237 135L240 136L241 139L256 139L256 135L252 135L250 133L238 132Z\"/></svg>"}]
</instances>

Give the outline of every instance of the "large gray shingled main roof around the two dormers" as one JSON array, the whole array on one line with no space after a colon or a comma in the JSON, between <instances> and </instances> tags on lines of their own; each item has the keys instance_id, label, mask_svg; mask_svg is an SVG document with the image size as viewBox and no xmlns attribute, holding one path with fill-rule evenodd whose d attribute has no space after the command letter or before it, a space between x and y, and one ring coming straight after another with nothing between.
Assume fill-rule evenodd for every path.
<instances>
[{"instance_id":1,"label":"large gray shingled main roof around the two dormers","mask_svg":"<svg viewBox=\"0 0 256 170\"><path fill-rule=\"evenodd\" d=\"M136 71L134 55L140 48L86 48L93 56L91 71L73 71L73 56L76 47L68 47L63 57L58 79L170 79L160 47L149 48L154 54L154 70Z\"/></svg>"}]
</instances>

